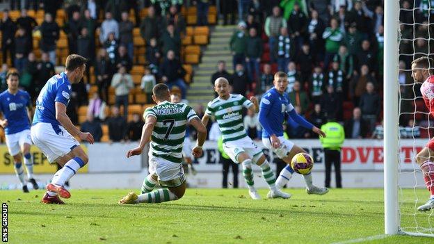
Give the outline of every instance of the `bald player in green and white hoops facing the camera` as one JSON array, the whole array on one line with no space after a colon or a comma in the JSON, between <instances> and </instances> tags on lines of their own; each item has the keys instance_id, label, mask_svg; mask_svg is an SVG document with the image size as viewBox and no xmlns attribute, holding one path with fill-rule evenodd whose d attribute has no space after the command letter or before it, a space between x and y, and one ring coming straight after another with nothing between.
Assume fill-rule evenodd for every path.
<instances>
[{"instance_id":1,"label":"bald player in green and white hoops facing the camera","mask_svg":"<svg viewBox=\"0 0 434 244\"><path fill-rule=\"evenodd\" d=\"M242 163L243 176L249 188L249 195L254 200L261 197L257 193L253 183L252 163L259 165L262 175L267 182L270 193L268 197L291 197L288 193L283 193L275 186L275 175L266 160L262 149L253 143L252 139L247 136L243 124L242 109L248 108L251 111L258 111L256 97L246 99L242 95L234 95L229 92L229 83L227 79L220 77L214 83L214 90L218 97L210 101L202 117L202 123L207 124L209 117L214 115L220 127L223 136L223 150L230 156L235 163Z\"/></svg>"}]
</instances>

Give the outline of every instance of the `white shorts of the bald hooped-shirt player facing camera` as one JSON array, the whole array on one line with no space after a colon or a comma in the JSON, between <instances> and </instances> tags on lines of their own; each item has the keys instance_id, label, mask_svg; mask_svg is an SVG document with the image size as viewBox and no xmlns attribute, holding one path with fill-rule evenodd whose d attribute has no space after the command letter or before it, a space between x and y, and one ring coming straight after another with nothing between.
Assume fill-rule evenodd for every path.
<instances>
[{"instance_id":1,"label":"white shorts of the bald hooped-shirt player facing camera","mask_svg":"<svg viewBox=\"0 0 434 244\"><path fill-rule=\"evenodd\" d=\"M248 136L239 140L231 140L223 143L223 151L225 151L227 156L229 156L234 163L242 163L239 162L236 157L243 152L246 152L250 158L252 158L253 163L256 163L259 157L262 156L262 149L253 143L252 139Z\"/></svg>"}]
</instances>

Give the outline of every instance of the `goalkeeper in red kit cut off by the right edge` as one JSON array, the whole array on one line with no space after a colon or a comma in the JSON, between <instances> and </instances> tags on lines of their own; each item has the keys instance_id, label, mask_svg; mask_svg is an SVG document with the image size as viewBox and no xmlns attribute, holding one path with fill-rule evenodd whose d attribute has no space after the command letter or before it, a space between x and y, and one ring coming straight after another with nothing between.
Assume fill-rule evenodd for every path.
<instances>
[{"instance_id":1,"label":"goalkeeper in red kit cut off by the right edge","mask_svg":"<svg viewBox=\"0 0 434 244\"><path fill-rule=\"evenodd\" d=\"M433 59L428 57L417 58L412 62L412 77L415 82L423 82L420 90L431 115L434 115L433 65ZM434 209L434 139L431 139L424 149L417 154L416 162L424 174L426 188L431 193L428 202L417 209L419 211L428 211Z\"/></svg>"}]
</instances>

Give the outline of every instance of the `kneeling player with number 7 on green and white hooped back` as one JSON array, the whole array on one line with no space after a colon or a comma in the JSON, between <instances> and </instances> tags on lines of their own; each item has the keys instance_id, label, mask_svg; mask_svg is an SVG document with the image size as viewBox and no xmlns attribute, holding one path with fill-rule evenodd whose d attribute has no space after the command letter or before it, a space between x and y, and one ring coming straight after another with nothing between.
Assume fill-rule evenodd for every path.
<instances>
[{"instance_id":1,"label":"kneeling player with number 7 on green and white hooped back","mask_svg":"<svg viewBox=\"0 0 434 244\"><path fill-rule=\"evenodd\" d=\"M207 129L195 111L186 104L171 103L170 91L165 84L154 86L152 94L156 106L146 109L140 145L129 150L127 158L141 154L146 143L150 142L150 175L147 179L154 186L158 181L162 188L140 195L128 193L119 201L120 204L167 202L178 200L184 195L186 177L181 162L187 122L198 131L198 142L193 148L193 156L202 156Z\"/></svg>"}]
</instances>

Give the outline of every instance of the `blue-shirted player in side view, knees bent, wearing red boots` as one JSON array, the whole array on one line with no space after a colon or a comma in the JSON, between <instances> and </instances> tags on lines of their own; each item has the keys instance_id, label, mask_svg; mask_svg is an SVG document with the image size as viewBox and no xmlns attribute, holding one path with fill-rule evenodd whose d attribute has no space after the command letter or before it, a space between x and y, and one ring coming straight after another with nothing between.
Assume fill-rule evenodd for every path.
<instances>
[{"instance_id":1,"label":"blue-shirted player in side view, knees bent, wearing red boots","mask_svg":"<svg viewBox=\"0 0 434 244\"><path fill-rule=\"evenodd\" d=\"M79 83L86 70L86 58L71 54L66 58L65 72L56 74L45 83L36 101L35 116L31 127L33 143L47 156L50 163L63 166L54 174L47 193L42 198L45 204L64 204L59 198L70 198L63 187L77 170L88 163L88 155L74 138L93 144L90 133L81 132L66 115L70 101L71 83Z\"/></svg>"}]
</instances>

